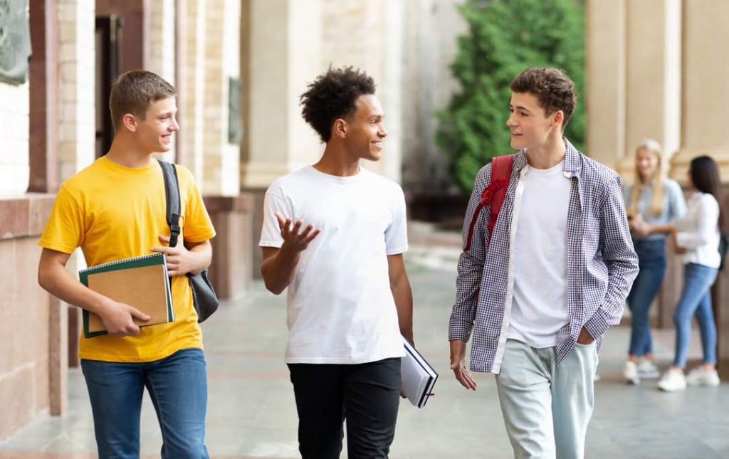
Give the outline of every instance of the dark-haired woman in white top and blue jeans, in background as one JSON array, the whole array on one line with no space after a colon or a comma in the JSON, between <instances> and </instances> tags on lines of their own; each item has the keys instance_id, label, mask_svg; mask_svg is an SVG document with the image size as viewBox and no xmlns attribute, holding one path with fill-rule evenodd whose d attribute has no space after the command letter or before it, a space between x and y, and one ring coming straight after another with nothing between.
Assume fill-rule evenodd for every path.
<instances>
[{"instance_id":1,"label":"dark-haired woman in white top and blue jeans, in background","mask_svg":"<svg viewBox=\"0 0 729 459\"><path fill-rule=\"evenodd\" d=\"M686 385L719 385L717 363L717 327L712 312L711 287L721 262L719 254L721 181L717 163L708 156L691 161L687 185L693 191L685 219L677 221L671 231L677 254L682 254L684 286L674 313L676 324L676 356L671 368L663 374L658 388L682 391ZM695 316L701 331L703 364L684 376L686 353L691 335L691 318Z\"/></svg>"}]
</instances>

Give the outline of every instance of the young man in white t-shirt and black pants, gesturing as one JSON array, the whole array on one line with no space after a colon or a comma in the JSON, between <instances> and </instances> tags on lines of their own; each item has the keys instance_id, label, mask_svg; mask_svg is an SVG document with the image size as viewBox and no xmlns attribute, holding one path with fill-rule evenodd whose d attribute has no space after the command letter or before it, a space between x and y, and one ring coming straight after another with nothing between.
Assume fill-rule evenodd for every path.
<instances>
[{"instance_id":1,"label":"young man in white t-shirt and black pants, gesturing","mask_svg":"<svg viewBox=\"0 0 729 459\"><path fill-rule=\"evenodd\" d=\"M301 96L326 144L319 162L276 179L265 195L261 272L288 291L286 364L303 459L387 458L400 388L400 334L413 340L405 197L360 167L387 136L370 76L330 69Z\"/></svg>"}]
</instances>

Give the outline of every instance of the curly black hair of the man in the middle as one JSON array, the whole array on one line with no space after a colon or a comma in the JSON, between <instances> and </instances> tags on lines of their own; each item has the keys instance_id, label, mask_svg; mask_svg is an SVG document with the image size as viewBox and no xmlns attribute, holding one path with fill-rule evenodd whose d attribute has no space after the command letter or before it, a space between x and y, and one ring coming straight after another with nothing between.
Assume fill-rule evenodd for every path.
<instances>
[{"instance_id":1,"label":"curly black hair of the man in the middle","mask_svg":"<svg viewBox=\"0 0 729 459\"><path fill-rule=\"evenodd\" d=\"M364 71L355 68L329 68L309 83L308 90L301 95L301 115L327 143L332 138L335 119L344 118L356 109L360 95L375 93L375 82Z\"/></svg>"}]
</instances>

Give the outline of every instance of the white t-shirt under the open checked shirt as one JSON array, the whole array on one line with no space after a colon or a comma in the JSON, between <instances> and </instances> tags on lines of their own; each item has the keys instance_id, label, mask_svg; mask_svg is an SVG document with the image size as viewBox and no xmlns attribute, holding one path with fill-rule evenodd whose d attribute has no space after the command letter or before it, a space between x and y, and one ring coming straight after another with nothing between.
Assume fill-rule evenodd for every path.
<instances>
[{"instance_id":1,"label":"white t-shirt under the open checked shirt","mask_svg":"<svg viewBox=\"0 0 729 459\"><path fill-rule=\"evenodd\" d=\"M567 306L567 210L570 179L563 163L525 166L514 241L514 297L507 337L533 348L556 345L569 323Z\"/></svg>"}]
</instances>

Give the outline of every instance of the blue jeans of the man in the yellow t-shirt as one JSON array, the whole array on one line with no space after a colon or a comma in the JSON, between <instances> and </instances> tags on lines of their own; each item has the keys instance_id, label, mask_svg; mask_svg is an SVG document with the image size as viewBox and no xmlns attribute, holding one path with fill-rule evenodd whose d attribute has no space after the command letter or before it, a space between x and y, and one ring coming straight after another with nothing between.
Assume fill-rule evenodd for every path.
<instances>
[{"instance_id":1,"label":"blue jeans of the man in the yellow t-shirt","mask_svg":"<svg viewBox=\"0 0 729 459\"><path fill-rule=\"evenodd\" d=\"M144 387L157 411L162 457L207 459L208 382L203 350L183 349L144 363L82 360L101 459L139 458Z\"/></svg>"}]
</instances>

